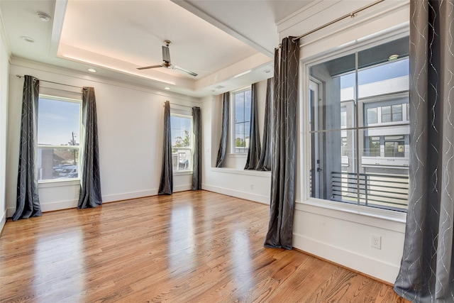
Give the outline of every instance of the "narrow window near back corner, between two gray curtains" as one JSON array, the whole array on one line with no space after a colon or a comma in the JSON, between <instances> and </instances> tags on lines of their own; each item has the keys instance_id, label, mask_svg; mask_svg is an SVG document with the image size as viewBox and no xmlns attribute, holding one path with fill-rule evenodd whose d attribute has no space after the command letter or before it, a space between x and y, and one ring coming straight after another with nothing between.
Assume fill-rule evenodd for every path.
<instances>
[{"instance_id":1,"label":"narrow window near back corner, between two gray curtains","mask_svg":"<svg viewBox=\"0 0 454 303\"><path fill-rule=\"evenodd\" d=\"M192 116L170 114L174 172L192 171Z\"/></svg>"}]
</instances>

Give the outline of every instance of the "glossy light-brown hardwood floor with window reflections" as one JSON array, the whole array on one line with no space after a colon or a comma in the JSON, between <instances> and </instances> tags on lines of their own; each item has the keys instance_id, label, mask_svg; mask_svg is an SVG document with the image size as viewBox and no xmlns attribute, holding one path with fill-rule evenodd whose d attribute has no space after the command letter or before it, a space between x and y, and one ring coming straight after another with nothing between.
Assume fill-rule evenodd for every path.
<instances>
[{"instance_id":1,"label":"glossy light-brown hardwood floor with window reflections","mask_svg":"<svg viewBox=\"0 0 454 303\"><path fill-rule=\"evenodd\" d=\"M263 247L269 207L179 192L6 222L1 302L406 302L389 285Z\"/></svg>"}]
</instances>

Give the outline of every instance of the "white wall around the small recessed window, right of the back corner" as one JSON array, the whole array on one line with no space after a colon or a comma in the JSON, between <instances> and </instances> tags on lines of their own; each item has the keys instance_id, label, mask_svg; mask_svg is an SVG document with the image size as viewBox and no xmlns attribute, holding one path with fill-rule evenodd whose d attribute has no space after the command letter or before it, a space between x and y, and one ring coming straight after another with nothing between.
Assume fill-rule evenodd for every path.
<instances>
[{"instance_id":1,"label":"white wall around the small recessed window, right of the back corner","mask_svg":"<svg viewBox=\"0 0 454 303\"><path fill-rule=\"evenodd\" d=\"M265 97L267 82L258 82L258 122L260 140L263 136L265 119ZM202 188L212 192L248 199L264 204L270 203L270 172L244 170L247 155L233 155L228 146L223 167L215 167L221 138L222 95L202 99L204 141L204 170Z\"/></svg>"}]
</instances>

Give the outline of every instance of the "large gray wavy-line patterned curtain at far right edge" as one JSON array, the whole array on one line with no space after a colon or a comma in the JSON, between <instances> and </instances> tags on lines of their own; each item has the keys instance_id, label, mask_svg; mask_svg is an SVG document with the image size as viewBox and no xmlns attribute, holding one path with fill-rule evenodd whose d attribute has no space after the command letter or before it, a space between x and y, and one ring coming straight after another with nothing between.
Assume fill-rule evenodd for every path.
<instances>
[{"instance_id":1,"label":"large gray wavy-line patterned curtain at far right edge","mask_svg":"<svg viewBox=\"0 0 454 303\"><path fill-rule=\"evenodd\" d=\"M394 290L454 302L454 1L410 2L409 207Z\"/></svg>"}]
</instances>

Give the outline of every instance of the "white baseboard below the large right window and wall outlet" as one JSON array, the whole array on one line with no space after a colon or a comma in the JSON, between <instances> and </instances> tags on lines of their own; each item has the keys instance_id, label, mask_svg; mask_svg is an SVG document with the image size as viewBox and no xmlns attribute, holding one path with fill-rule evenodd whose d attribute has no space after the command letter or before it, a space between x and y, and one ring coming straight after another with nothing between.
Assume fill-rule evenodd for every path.
<instances>
[{"instance_id":1,"label":"white baseboard below the large right window and wall outlet","mask_svg":"<svg viewBox=\"0 0 454 303\"><path fill-rule=\"evenodd\" d=\"M369 258L367 255L360 255L353 251L338 248L329 243L323 243L297 234L293 234L293 246L306 253L330 260L345 268L365 273L366 275L391 284L394 284L399 273L399 265Z\"/></svg>"}]
</instances>

